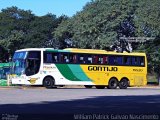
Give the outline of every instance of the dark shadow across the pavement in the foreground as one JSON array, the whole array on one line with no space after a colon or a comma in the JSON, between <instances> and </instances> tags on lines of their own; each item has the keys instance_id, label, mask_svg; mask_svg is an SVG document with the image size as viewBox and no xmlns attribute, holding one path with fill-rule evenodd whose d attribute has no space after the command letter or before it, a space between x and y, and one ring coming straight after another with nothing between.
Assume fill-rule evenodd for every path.
<instances>
[{"instance_id":1,"label":"dark shadow across the pavement in the foreground","mask_svg":"<svg viewBox=\"0 0 160 120\"><path fill-rule=\"evenodd\" d=\"M28 96L29 97L29 96ZM75 119L75 115L160 114L160 95L101 96L58 102L0 105L1 118L18 115L18 120ZM81 118L81 119L83 119ZM159 116L160 118L160 116ZM80 119L80 118L79 118ZM5 119L4 119L5 120Z\"/></svg>"}]
</instances>

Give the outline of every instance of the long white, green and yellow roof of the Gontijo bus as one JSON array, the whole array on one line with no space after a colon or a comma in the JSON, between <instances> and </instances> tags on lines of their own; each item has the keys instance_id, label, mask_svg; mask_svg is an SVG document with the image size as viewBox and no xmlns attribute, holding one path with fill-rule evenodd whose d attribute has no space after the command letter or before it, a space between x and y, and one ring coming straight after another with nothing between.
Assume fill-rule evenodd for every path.
<instances>
[{"instance_id":1,"label":"long white, green and yellow roof of the Gontijo bus","mask_svg":"<svg viewBox=\"0 0 160 120\"><path fill-rule=\"evenodd\" d=\"M20 49L16 52L21 51L52 51L52 52L72 52L72 53L90 53L90 54L115 54L115 55L140 55L144 56L145 53L142 52L123 52L118 53L115 51L106 51L106 50L98 50L98 49L80 49L80 48L65 48L65 49L54 49L54 48L26 48L26 49Z\"/></svg>"}]
</instances>

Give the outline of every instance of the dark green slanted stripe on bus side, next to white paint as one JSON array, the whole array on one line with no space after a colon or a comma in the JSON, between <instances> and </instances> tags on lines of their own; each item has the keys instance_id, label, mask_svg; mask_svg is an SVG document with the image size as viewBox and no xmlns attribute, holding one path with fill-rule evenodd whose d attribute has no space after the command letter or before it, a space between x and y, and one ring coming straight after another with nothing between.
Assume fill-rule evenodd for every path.
<instances>
[{"instance_id":1,"label":"dark green slanted stripe on bus side, next to white paint","mask_svg":"<svg viewBox=\"0 0 160 120\"><path fill-rule=\"evenodd\" d=\"M81 81L76 76L74 76L73 72L70 70L67 64L56 64L56 66L66 79L71 81Z\"/></svg>"}]
</instances>

